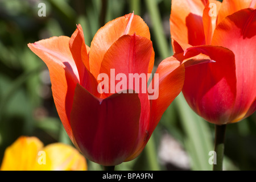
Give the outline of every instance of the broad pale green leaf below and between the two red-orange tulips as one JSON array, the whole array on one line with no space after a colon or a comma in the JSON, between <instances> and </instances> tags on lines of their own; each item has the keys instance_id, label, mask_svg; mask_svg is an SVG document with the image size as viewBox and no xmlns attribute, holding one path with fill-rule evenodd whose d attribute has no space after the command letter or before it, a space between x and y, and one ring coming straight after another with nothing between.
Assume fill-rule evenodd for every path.
<instances>
[{"instance_id":1,"label":"broad pale green leaf below and between the two red-orange tulips","mask_svg":"<svg viewBox=\"0 0 256 182\"><path fill-rule=\"evenodd\" d=\"M214 148L209 123L192 111L183 94L175 99L175 104L185 133L185 150L191 157L192 170L212 170L212 165L209 164L209 152Z\"/></svg>"}]
</instances>

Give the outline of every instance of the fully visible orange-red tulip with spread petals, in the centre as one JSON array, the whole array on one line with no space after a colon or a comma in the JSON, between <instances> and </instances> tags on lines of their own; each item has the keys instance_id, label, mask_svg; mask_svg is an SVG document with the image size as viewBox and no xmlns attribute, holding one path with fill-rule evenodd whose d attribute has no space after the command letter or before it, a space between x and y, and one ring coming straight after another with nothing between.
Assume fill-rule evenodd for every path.
<instances>
[{"instance_id":1,"label":"fully visible orange-red tulip with spread petals, in the centre","mask_svg":"<svg viewBox=\"0 0 256 182\"><path fill-rule=\"evenodd\" d=\"M209 60L202 54L193 61L169 57L148 89L143 90L148 77L131 83L130 74L147 76L154 67L150 31L133 13L106 23L90 47L80 25L71 38L53 37L28 47L49 69L53 99L69 138L87 159L103 166L141 154L162 114L181 92L185 67ZM152 90L157 97L149 99Z\"/></svg>"}]
</instances>

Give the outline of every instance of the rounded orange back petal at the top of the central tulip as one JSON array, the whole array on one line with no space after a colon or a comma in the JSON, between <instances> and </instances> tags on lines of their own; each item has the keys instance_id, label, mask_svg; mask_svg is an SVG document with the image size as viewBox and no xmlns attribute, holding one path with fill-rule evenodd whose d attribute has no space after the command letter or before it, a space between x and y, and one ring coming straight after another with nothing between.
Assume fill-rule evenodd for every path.
<instances>
[{"instance_id":1,"label":"rounded orange back petal at the top of the central tulip","mask_svg":"<svg viewBox=\"0 0 256 182\"><path fill-rule=\"evenodd\" d=\"M143 19L133 13L114 19L97 31L91 43L89 54L90 72L97 78L100 73L101 62L110 46L122 35L143 36L150 40L150 31ZM152 52L153 54L154 52ZM154 66L154 55L151 56L148 72L151 73Z\"/></svg>"}]
</instances>

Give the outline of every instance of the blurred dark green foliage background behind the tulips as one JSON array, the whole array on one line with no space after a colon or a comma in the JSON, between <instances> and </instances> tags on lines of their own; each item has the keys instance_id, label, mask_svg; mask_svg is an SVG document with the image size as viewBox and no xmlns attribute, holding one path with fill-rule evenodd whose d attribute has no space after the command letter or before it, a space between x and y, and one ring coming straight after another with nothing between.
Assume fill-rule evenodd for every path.
<instances>
[{"instance_id":1,"label":"blurred dark green foliage background behind the tulips","mask_svg":"<svg viewBox=\"0 0 256 182\"><path fill-rule=\"evenodd\" d=\"M46 16L39 16L39 3ZM109 20L133 12L150 27L155 66L173 54L169 18L171 0L0 0L0 164L3 152L20 135L46 145L71 144L52 99L48 69L27 47L51 36L71 36L81 24L85 42ZM164 113L139 157L117 170L211 170L214 125L203 121L180 94ZM224 169L256 169L256 114L228 125ZM101 166L88 161L89 170Z\"/></svg>"}]
</instances>

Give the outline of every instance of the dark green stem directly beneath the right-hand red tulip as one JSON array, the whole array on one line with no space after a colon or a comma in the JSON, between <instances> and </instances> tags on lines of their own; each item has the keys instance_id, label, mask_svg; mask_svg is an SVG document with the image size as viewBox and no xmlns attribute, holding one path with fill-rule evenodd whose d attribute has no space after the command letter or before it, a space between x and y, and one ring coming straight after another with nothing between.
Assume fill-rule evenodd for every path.
<instances>
[{"instance_id":1,"label":"dark green stem directly beneath the right-hand red tulip","mask_svg":"<svg viewBox=\"0 0 256 182\"><path fill-rule=\"evenodd\" d=\"M213 171L222 171L224 158L224 140L226 125L215 125L214 151L216 152L216 164L213 164Z\"/></svg>"}]
</instances>

